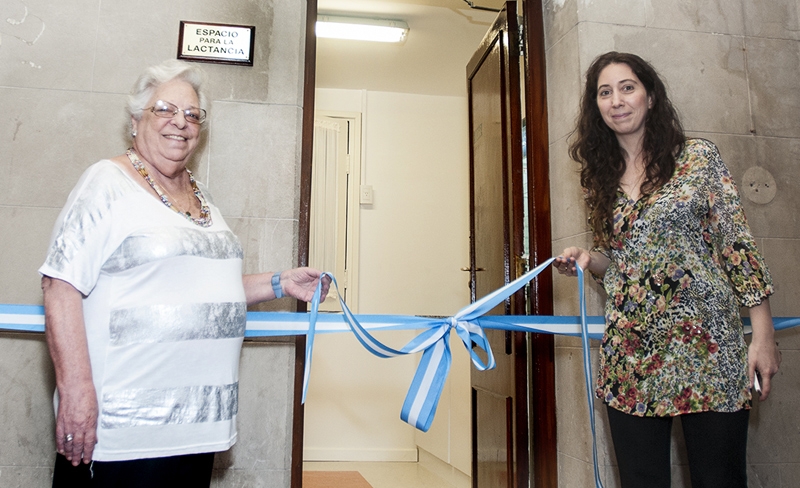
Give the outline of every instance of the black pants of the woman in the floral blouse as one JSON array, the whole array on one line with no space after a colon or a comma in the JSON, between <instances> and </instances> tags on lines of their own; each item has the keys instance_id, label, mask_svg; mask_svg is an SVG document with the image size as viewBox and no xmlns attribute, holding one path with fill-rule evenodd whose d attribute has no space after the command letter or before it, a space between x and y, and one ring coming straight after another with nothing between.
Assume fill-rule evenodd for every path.
<instances>
[{"instance_id":1,"label":"black pants of the woman in the floral blouse","mask_svg":"<svg viewBox=\"0 0 800 488\"><path fill-rule=\"evenodd\" d=\"M747 488L749 410L681 415L692 488ZM670 488L672 417L608 407L622 488Z\"/></svg>"}]
</instances>

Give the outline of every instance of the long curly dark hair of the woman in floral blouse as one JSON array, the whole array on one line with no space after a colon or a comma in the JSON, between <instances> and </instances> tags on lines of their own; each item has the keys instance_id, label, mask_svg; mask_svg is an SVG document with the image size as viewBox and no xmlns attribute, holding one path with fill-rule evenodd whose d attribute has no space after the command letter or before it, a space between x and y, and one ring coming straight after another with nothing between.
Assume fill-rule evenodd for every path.
<instances>
[{"instance_id":1,"label":"long curly dark hair of the woman in floral blouse","mask_svg":"<svg viewBox=\"0 0 800 488\"><path fill-rule=\"evenodd\" d=\"M607 245L611 236L617 188L625 173L623 149L614 131L603 121L597 106L598 78L600 72L610 64L628 65L653 103L644 126L642 154L645 178L642 193L652 194L672 177L675 158L683 150L686 139L664 83L647 61L635 54L612 51L598 56L592 62L586 71L586 86L569 154L581 165L581 186L586 191L589 225L595 245L600 246Z\"/></svg>"}]
</instances>

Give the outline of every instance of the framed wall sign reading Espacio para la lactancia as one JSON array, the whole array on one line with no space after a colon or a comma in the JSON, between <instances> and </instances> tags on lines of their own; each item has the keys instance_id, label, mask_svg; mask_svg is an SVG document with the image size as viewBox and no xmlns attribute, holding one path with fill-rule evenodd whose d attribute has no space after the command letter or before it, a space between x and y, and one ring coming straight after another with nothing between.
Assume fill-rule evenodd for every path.
<instances>
[{"instance_id":1,"label":"framed wall sign reading Espacio para la lactancia","mask_svg":"<svg viewBox=\"0 0 800 488\"><path fill-rule=\"evenodd\" d=\"M253 66L256 28L252 25L181 21L178 59Z\"/></svg>"}]
</instances>

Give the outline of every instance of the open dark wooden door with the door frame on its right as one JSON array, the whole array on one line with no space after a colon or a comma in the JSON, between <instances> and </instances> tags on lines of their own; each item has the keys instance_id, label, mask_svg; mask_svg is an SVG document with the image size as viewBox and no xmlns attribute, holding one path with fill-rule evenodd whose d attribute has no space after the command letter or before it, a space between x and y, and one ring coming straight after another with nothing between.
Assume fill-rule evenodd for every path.
<instances>
[{"instance_id":1,"label":"open dark wooden door with the door frame on its right","mask_svg":"<svg viewBox=\"0 0 800 488\"><path fill-rule=\"evenodd\" d=\"M524 273L523 256L538 264L552 255L542 2L522 0L522 6L524 25L517 25L516 5L507 3L467 66L473 300ZM492 313L552 315L551 274ZM488 335L498 367L472 375L473 486L555 488L553 336Z\"/></svg>"}]
</instances>

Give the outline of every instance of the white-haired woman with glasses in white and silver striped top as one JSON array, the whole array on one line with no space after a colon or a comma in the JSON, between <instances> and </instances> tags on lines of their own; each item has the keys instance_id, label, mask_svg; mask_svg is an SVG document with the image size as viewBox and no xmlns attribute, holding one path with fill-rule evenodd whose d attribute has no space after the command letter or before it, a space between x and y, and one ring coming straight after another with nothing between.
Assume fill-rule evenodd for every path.
<instances>
[{"instance_id":1,"label":"white-haired woman with glasses in white and silver striped top","mask_svg":"<svg viewBox=\"0 0 800 488\"><path fill-rule=\"evenodd\" d=\"M247 305L309 301L320 280L242 276L239 240L186 167L203 80L180 61L147 69L128 100L132 147L89 167L56 222L39 269L53 486L208 486L214 453L236 442Z\"/></svg>"}]
</instances>

